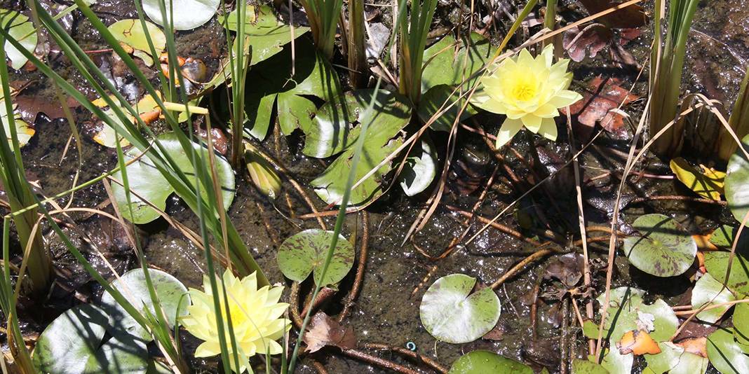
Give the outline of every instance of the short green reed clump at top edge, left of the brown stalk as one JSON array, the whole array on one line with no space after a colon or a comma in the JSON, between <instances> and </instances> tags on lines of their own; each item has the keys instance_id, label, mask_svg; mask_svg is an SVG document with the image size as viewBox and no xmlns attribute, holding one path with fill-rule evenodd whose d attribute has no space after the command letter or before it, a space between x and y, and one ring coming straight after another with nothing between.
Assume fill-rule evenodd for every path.
<instances>
[{"instance_id":1,"label":"short green reed clump at top edge, left of the brown stalk","mask_svg":"<svg viewBox=\"0 0 749 374\"><path fill-rule=\"evenodd\" d=\"M318 51L330 59L336 45L336 27L341 17L343 0L300 0L307 19L312 39Z\"/></svg>"}]
</instances>

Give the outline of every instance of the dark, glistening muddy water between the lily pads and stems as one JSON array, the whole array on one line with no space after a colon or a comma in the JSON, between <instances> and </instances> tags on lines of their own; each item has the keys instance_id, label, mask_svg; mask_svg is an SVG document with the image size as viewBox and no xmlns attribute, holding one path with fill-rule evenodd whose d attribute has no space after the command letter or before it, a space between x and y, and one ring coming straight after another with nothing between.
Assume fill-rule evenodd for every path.
<instances>
[{"instance_id":1,"label":"dark, glistening muddy water between the lily pads and stems","mask_svg":"<svg viewBox=\"0 0 749 374\"><path fill-rule=\"evenodd\" d=\"M17 4L6 3L7 1L4 1L6 7L18 6ZM124 3L127 2L100 1L97 5L97 11L107 23L113 22L115 19L136 16L131 4ZM689 45L691 58L688 59L688 71L690 73L687 82L685 82L687 88L706 91L716 98L733 100L743 74L743 68L737 69L736 67L745 67L745 59L749 58L749 24L746 21L748 19L746 12L747 10L742 7L742 1L740 0L711 1L709 7L705 6L698 12L695 21L697 33L691 38ZM715 22L716 19L727 19L727 21ZM85 20L78 16L78 18L70 19L70 21L70 32L76 37L76 40L79 40L82 47L92 50L104 47L97 34L91 33L91 27ZM218 49L216 47L216 40L221 40L222 34L220 26L216 25L215 21L196 31L178 33L176 37L180 55L201 58L206 62L209 69L216 68L218 58L223 51L220 47ZM648 41L643 40L635 47L639 50L635 55L640 61L643 60L648 45ZM738 63L739 61L741 64ZM599 58L597 61L577 64L574 67L576 78L587 79L601 71L611 71L604 69L606 63L607 61ZM91 95L79 73L67 67L64 56L58 55L55 64L62 75L69 78L71 82L75 82L85 93ZM27 88L28 91L23 94L43 97L52 101L54 97L52 88L49 82L38 73L16 73L14 79L33 79L37 81ZM642 89L643 85L638 87L638 89ZM637 117L637 114L634 113L634 116ZM91 120L90 114L79 110L76 112L76 120L79 127L84 129L85 123ZM488 126L491 129L491 123ZM157 130L163 131L158 127ZM40 117L37 118L37 135L23 150L31 179L40 181L43 193L46 195L57 194L70 188L76 171L79 170L78 154L74 147L67 150L63 157L69 136L70 129L64 121L46 120ZM287 145L291 145L291 149L299 149L299 147L296 147L298 139L278 139L281 145L279 153L276 152L275 141L276 139L271 135L263 144L265 150L284 165L287 165L291 174L301 183L308 183L324 170L324 165L318 160L307 159L304 156L288 152L290 147L287 147ZM464 147L469 147L471 143L472 141L468 137L461 138L458 154L462 155ZM542 141L542 144L545 144L545 150L552 156L556 155L557 159L565 159L565 150L554 148L545 141ZM601 144L604 144L601 149L591 150L584 155L581 162L583 180L597 177L603 171L621 165L622 156L614 151L626 151L626 144L613 138L604 139ZM607 150L608 148L614 151ZM444 154L444 152L440 154ZM491 157L489 159L488 165L490 167L481 169L480 172L475 174L468 173L478 179L478 182L476 182L479 185L478 190L473 191L472 194L461 193L461 191L465 191L461 188L466 188L466 186L451 182L443 201L470 211L482 191L488 175L493 170L494 160L491 160ZM115 154L111 150L95 144L88 137L84 140L82 160L85 166L80 168L79 181L97 177L115 166ZM553 163L553 157L551 161ZM527 170L520 162L515 160L511 165L523 180L530 178ZM667 168L659 165L656 160L650 160L647 172L650 174L668 174ZM465 179L468 175L457 170L455 173L460 175L462 179ZM276 248L279 241L302 229L317 227L317 224L314 220L301 221L293 218L294 214L303 214L308 212L309 208L306 207L289 183L284 183L283 190L285 194L290 195L294 212L290 211L284 197L274 202L262 197L250 186L245 176L238 177L237 186L237 197L229 210L231 220L237 226L237 230L248 244L258 263L267 272L270 280L274 283L284 282L276 266ZM611 191L610 188L616 188L616 186L618 186L618 180L615 178L602 178L586 186L586 193L593 194L593 190L605 188L609 188L609 191ZM557 178L554 181L554 186L551 187L551 191L555 192L554 196L557 197L557 199L554 199L554 203L559 206L560 211L557 212L556 208L550 207L553 204L548 194L533 194L532 197L521 201L518 204L518 209L511 209L509 214L500 222L515 230L523 230L518 225L518 221L527 222L530 220L530 226L539 229L543 226L543 220L538 215L540 209L545 215L548 215L547 219L551 221L551 226L555 230L562 233L574 233L577 215L574 205L574 192L569 187L569 180L562 180L561 178ZM680 188L670 180L645 178L628 185L625 193L632 197L683 193L684 191ZM509 187L506 177L500 177L497 188L492 188L488 192L485 203L479 208L479 214L485 217L493 217L517 196L510 191L512 191L512 188ZM308 191L308 193L313 196L318 207L321 207L322 203L316 199L314 193L312 191ZM73 206L94 207L100 205L106 199L103 186L97 184L76 192L73 197ZM605 205L608 201L610 201L610 196L603 196L598 201L589 200L586 205L586 218L588 218L589 224L607 223L609 219L607 212L610 212L610 209L606 209ZM61 205L64 205L64 203L67 203L67 197L61 200ZM539 303L539 322L536 328L539 339L538 343L533 343L533 340L530 339L530 307L524 302L536 281L539 280L543 266L532 267L525 272L521 272L512 281L497 289L503 312L494 331L496 340L478 340L464 345L434 342L434 338L425 331L419 322L419 302L429 284L443 275L456 272L476 277L482 283L492 283L514 263L524 258L533 248L524 245L517 239L499 233L497 230L489 229L479 234L471 245L459 248L446 259L438 262L428 260L419 253L419 249L431 256L440 254L448 247L453 237L461 235L464 230L461 222L464 218L449 212L447 209L437 209L424 230L414 236L413 243L416 246L412 245L411 242L401 245L401 242L404 241L404 233L407 232L418 215L422 203L424 203L423 197L407 199L394 194L383 197L382 201L369 209L371 212L370 245L366 274L360 296L347 320L348 324L353 326L358 340L362 343L387 343L392 346L406 346L407 343L413 343L416 346L416 352L436 358L437 361L448 367L461 354L474 349L491 349L508 357L532 359L542 364L554 364L558 361L560 330L550 322L551 304ZM599 208L596 209L593 206L599 206ZM604 206L604 208L600 208L600 206ZM109 207L104 209L111 212ZM276 209L282 214L276 212ZM715 227L721 221L727 222L730 219L721 209L696 206L692 203L635 204L628 207L622 215L622 219L631 222L634 217L643 212L665 211L673 212L676 218L685 224L685 227L694 232L703 232L710 227ZM177 198L169 200L168 212L178 221L187 224L188 227L196 228L194 215ZM695 214L695 212L700 212L700 214ZM287 219L284 216L292 218ZM329 227L333 226L333 218L327 218L326 221ZM477 228L481 227L481 224L476 222L471 224L473 228L469 235L473 235ZM355 225L355 217L351 216L344 230L346 236L350 236L354 232ZM528 225L524 224L524 226ZM111 226L111 224L108 226L96 217L81 221L83 231L87 232L88 236L97 243L99 249L115 265L115 269L123 271L132 268L134 265L131 250L127 248L126 243L118 240L117 230L112 229ZM198 248L187 242L177 230L167 227L163 222L148 224L140 227L139 230L144 237L143 244L149 263L177 276L187 286L201 286L204 263L201 251ZM361 227L357 232L361 235ZM533 235L530 231L524 232ZM70 234L76 239L76 243L90 251L91 248L88 247L85 240L76 236L77 234L72 231ZM70 307L70 304L73 303L71 295L76 291L79 293L79 298L96 300L99 293L97 286L91 285L88 276L82 273L82 270L79 269L79 266L76 266L70 255L65 253L64 248L58 245L54 236L48 236L52 243L56 263L63 269L62 273L69 277L63 283L70 287L67 291L58 290L54 293L52 301L49 303L52 305L49 314L60 313L64 308ZM593 245L591 250L594 253L593 257L599 259L603 257L605 248L600 245ZM90 257L92 260L94 259L93 255ZM432 271L434 266L437 266L437 269ZM101 263L97 263L97 267L106 271ZM673 303L679 301L689 285L687 281L675 281L670 283L668 289L662 287L656 289L655 285L658 282L641 272L637 272L637 270L631 269L626 260L622 258L617 261L617 269L618 275L614 286L632 282L635 286L648 289L652 291L653 295L667 298L667 301ZM427 281L422 284L425 278ZM348 290L352 281L353 273L343 281L342 292ZM286 284L288 285L288 283ZM603 285L596 282L594 286L600 290ZM414 292L416 287L419 287L419 289ZM335 313L340 310L340 306L334 302L328 310ZM43 323L43 321L40 322ZM37 326L37 328L42 327ZM188 352L195 348L194 341L188 339L185 343ZM388 352L380 352L379 354L398 363L409 364L397 355ZM380 368L370 367L367 364L343 358L340 355L316 354L313 357L323 362L330 373L385 373ZM215 371L215 361L196 361L195 364L195 367L198 368L196 371ZM312 372L309 367L300 368L300 373Z\"/></svg>"}]
</instances>

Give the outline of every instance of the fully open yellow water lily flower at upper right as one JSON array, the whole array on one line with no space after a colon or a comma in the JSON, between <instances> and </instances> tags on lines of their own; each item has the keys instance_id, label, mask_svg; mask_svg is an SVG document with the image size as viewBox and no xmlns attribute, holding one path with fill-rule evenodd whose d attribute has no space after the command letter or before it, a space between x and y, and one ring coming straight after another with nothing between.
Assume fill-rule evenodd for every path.
<instances>
[{"instance_id":1,"label":"fully open yellow water lily flower at upper right","mask_svg":"<svg viewBox=\"0 0 749 374\"><path fill-rule=\"evenodd\" d=\"M527 49L516 58L505 58L494 73L481 79L482 89L473 97L473 104L485 111L506 114L497 134L497 148L507 144L520 129L557 140L557 108L571 105L583 96L569 91L572 73L567 72L569 60L553 64L551 45L533 58Z\"/></svg>"}]
</instances>

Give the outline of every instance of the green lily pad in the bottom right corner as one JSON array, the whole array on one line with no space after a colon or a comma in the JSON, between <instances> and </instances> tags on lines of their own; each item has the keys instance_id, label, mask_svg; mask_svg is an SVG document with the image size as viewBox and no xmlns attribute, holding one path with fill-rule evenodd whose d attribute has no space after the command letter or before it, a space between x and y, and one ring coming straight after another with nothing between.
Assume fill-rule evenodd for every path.
<instances>
[{"instance_id":1,"label":"green lily pad in the bottom right corner","mask_svg":"<svg viewBox=\"0 0 749 374\"><path fill-rule=\"evenodd\" d=\"M749 356L733 340L731 328L718 328L707 337L707 357L723 374L749 373Z\"/></svg>"}]
</instances>

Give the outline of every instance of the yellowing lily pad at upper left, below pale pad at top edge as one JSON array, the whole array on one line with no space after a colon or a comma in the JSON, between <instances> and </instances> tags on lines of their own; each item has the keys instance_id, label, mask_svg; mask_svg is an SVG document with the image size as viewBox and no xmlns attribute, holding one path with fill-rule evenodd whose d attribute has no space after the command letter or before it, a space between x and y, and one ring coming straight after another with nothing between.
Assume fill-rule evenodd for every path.
<instances>
[{"instance_id":1,"label":"yellowing lily pad at upper left, below pale pad at top edge","mask_svg":"<svg viewBox=\"0 0 749 374\"><path fill-rule=\"evenodd\" d=\"M166 36L163 31L148 21L145 21L145 28L143 28L140 19L121 19L109 25L108 29L120 43L133 47L133 55L141 58L149 67L154 64L154 58L159 56L151 56L151 48L148 46L146 35L151 37L151 43L154 43L157 53L166 48Z\"/></svg>"}]
</instances>

